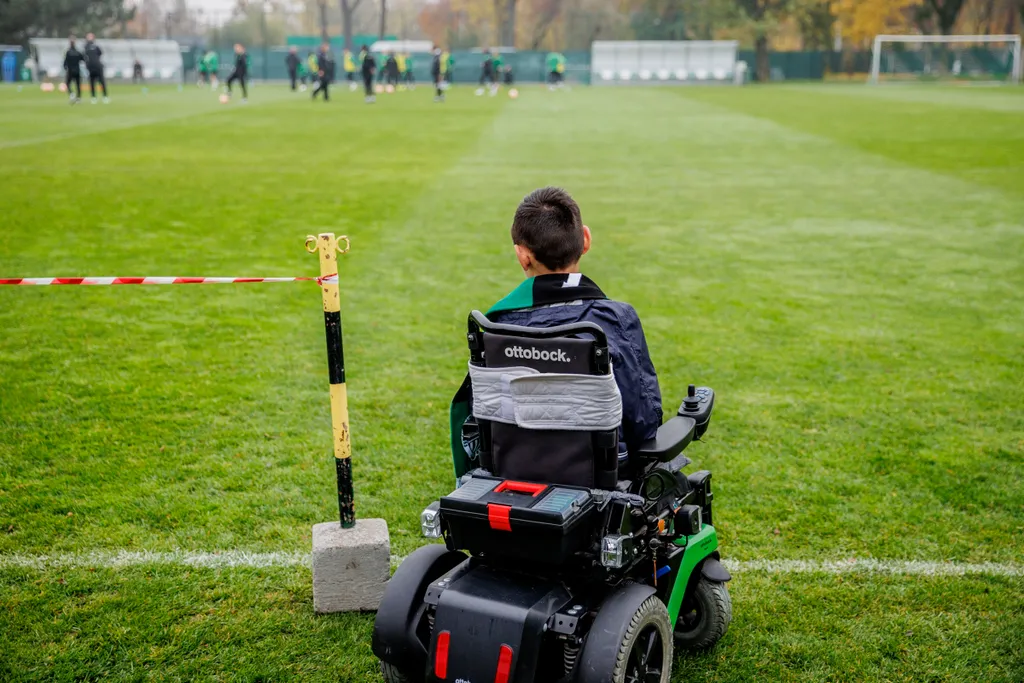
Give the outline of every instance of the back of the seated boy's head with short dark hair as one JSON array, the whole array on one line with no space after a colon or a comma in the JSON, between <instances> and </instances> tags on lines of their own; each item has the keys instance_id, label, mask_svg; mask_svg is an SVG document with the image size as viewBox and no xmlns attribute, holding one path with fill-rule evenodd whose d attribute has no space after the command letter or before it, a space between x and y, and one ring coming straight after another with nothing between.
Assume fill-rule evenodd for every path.
<instances>
[{"instance_id":1,"label":"back of the seated boy's head with short dark hair","mask_svg":"<svg viewBox=\"0 0 1024 683\"><path fill-rule=\"evenodd\" d=\"M535 189L515 211L512 244L529 249L549 270L577 263L584 253L580 206L560 187Z\"/></svg>"}]
</instances>

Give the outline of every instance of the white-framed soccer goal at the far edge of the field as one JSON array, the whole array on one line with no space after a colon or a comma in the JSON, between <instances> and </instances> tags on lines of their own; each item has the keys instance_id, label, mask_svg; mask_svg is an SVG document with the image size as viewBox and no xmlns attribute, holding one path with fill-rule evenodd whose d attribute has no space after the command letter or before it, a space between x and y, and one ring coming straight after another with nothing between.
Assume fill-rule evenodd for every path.
<instances>
[{"instance_id":1,"label":"white-framed soccer goal at the far edge of the field","mask_svg":"<svg viewBox=\"0 0 1024 683\"><path fill-rule=\"evenodd\" d=\"M876 36L871 83L1021 80L1020 36Z\"/></svg>"}]
</instances>

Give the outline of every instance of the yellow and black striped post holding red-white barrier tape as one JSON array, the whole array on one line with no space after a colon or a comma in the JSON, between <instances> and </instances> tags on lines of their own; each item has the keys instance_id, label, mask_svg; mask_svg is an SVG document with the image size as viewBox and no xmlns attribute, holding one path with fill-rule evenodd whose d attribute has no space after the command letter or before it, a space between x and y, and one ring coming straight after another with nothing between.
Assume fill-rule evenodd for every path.
<instances>
[{"instance_id":1,"label":"yellow and black striped post holding red-white barrier tape","mask_svg":"<svg viewBox=\"0 0 1024 683\"><path fill-rule=\"evenodd\" d=\"M344 242L344 248L338 242ZM306 238L306 250L319 252L321 293L324 295L324 328L327 330L327 366L331 378L331 428L334 462L338 474L338 511L341 525L355 525L352 495L352 441L348 433L348 394L345 391L345 354L341 343L341 298L338 293L338 255L348 252L348 238L334 232Z\"/></svg>"}]
</instances>

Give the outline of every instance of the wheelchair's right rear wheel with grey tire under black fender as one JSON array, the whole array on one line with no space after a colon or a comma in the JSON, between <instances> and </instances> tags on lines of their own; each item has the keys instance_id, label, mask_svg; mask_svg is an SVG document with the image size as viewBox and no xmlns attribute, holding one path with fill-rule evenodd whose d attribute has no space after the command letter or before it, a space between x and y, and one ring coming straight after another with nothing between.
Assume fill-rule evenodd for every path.
<instances>
[{"instance_id":1,"label":"wheelchair's right rear wheel with grey tire under black fender","mask_svg":"<svg viewBox=\"0 0 1024 683\"><path fill-rule=\"evenodd\" d=\"M587 634L577 683L669 683L672 624L647 586L630 584L598 610Z\"/></svg>"}]
</instances>

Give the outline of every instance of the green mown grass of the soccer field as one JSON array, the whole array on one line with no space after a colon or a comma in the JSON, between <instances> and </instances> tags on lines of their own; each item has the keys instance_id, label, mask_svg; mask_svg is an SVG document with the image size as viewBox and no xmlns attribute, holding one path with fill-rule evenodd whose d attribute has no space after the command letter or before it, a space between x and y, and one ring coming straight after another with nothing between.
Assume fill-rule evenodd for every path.
<instances>
[{"instance_id":1,"label":"green mown grass of the soccer field","mask_svg":"<svg viewBox=\"0 0 1024 683\"><path fill-rule=\"evenodd\" d=\"M674 680L1024 680L1024 89L112 95L0 89L0 278L310 275L305 236L350 236L356 508L395 555L452 485L465 316L559 184L667 405L718 392L689 455L735 617ZM301 560L337 513L319 306L0 288L0 680L380 680ZM173 559L218 551L299 559ZM755 562L850 559L895 568Z\"/></svg>"}]
</instances>

